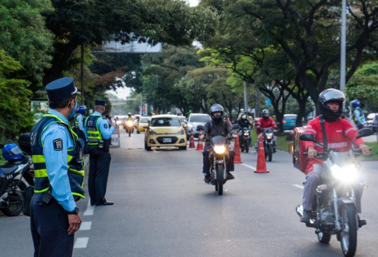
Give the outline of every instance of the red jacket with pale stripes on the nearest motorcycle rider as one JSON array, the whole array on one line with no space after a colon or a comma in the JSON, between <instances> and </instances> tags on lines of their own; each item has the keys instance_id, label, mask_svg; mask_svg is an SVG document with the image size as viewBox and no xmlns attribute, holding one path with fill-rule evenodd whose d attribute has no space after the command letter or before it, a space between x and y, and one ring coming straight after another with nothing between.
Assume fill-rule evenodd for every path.
<instances>
[{"instance_id":1,"label":"red jacket with pale stripes on the nearest motorcycle rider","mask_svg":"<svg viewBox=\"0 0 378 257\"><path fill-rule=\"evenodd\" d=\"M335 121L324 121L325 132L327 135L328 149L336 149L341 152L349 151L352 145L352 141L355 139L358 130L354 128L347 120L338 118ZM319 116L311 120L305 127L306 133L311 133L315 136L315 139L323 143L322 126L319 122ZM363 144L362 138L357 139L354 142L355 146ZM323 151L323 147L316 145L314 142L305 142L306 151L308 147L314 146L315 150ZM307 175L312 169L314 163L322 163L322 159L310 159L306 168L305 174Z\"/></svg>"}]
</instances>

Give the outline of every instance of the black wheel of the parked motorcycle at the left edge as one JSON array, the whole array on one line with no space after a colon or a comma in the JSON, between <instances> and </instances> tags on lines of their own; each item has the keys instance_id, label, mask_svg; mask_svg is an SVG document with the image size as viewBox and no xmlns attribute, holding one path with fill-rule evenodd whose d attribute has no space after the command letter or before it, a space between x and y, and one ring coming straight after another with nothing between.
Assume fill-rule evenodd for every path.
<instances>
[{"instance_id":1,"label":"black wheel of the parked motorcycle at the left edge","mask_svg":"<svg viewBox=\"0 0 378 257\"><path fill-rule=\"evenodd\" d=\"M20 182L20 184L18 184ZM17 184L19 186L17 186ZM18 216L24 211L24 196L23 192L26 189L26 184L20 180L13 180L9 185L8 191L8 201L9 205L2 209L2 212L9 216Z\"/></svg>"}]
</instances>

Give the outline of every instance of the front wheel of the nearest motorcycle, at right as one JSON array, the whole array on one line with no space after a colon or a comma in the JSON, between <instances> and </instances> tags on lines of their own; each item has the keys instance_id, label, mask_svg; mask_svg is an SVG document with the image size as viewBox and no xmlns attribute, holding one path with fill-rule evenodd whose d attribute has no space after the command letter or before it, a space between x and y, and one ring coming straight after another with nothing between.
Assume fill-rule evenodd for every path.
<instances>
[{"instance_id":1,"label":"front wheel of the nearest motorcycle, at right","mask_svg":"<svg viewBox=\"0 0 378 257\"><path fill-rule=\"evenodd\" d=\"M340 243L341 249L346 257L354 256L357 249L357 215L353 205L340 206L341 234Z\"/></svg>"}]
</instances>

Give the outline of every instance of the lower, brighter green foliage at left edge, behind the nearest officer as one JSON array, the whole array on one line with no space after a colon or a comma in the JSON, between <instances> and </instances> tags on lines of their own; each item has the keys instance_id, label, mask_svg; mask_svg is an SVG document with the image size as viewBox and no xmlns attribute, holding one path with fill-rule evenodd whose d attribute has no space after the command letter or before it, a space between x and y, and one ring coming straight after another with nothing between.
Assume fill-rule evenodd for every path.
<instances>
[{"instance_id":1,"label":"lower, brighter green foliage at left edge, behind the nearest officer","mask_svg":"<svg viewBox=\"0 0 378 257\"><path fill-rule=\"evenodd\" d=\"M34 124L30 111L30 83L15 78L12 74L21 71L21 64L6 52L0 50L0 140L14 139L22 132L29 131Z\"/></svg>"}]
</instances>

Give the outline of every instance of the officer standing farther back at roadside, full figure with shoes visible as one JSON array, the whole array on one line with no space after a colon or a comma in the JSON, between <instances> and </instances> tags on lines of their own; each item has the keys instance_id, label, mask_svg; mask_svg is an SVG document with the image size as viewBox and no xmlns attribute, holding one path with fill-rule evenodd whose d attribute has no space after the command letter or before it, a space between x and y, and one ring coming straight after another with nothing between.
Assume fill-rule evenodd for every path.
<instances>
[{"instance_id":1,"label":"officer standing farther back at roadside, full figure with shoes visible","mask_svg":"<svg viewBox=\"0 0 378 257\"><path fill-rule=\"evenodd\" d=\"M113 204L106 201L105 193L111 159L109 145L115 124L109 125L102 117L105 106L105 100L96 100L95 112L85 120L89 152L88 191L90 204L96 206Z\"/></svg>"}]
</instances>

